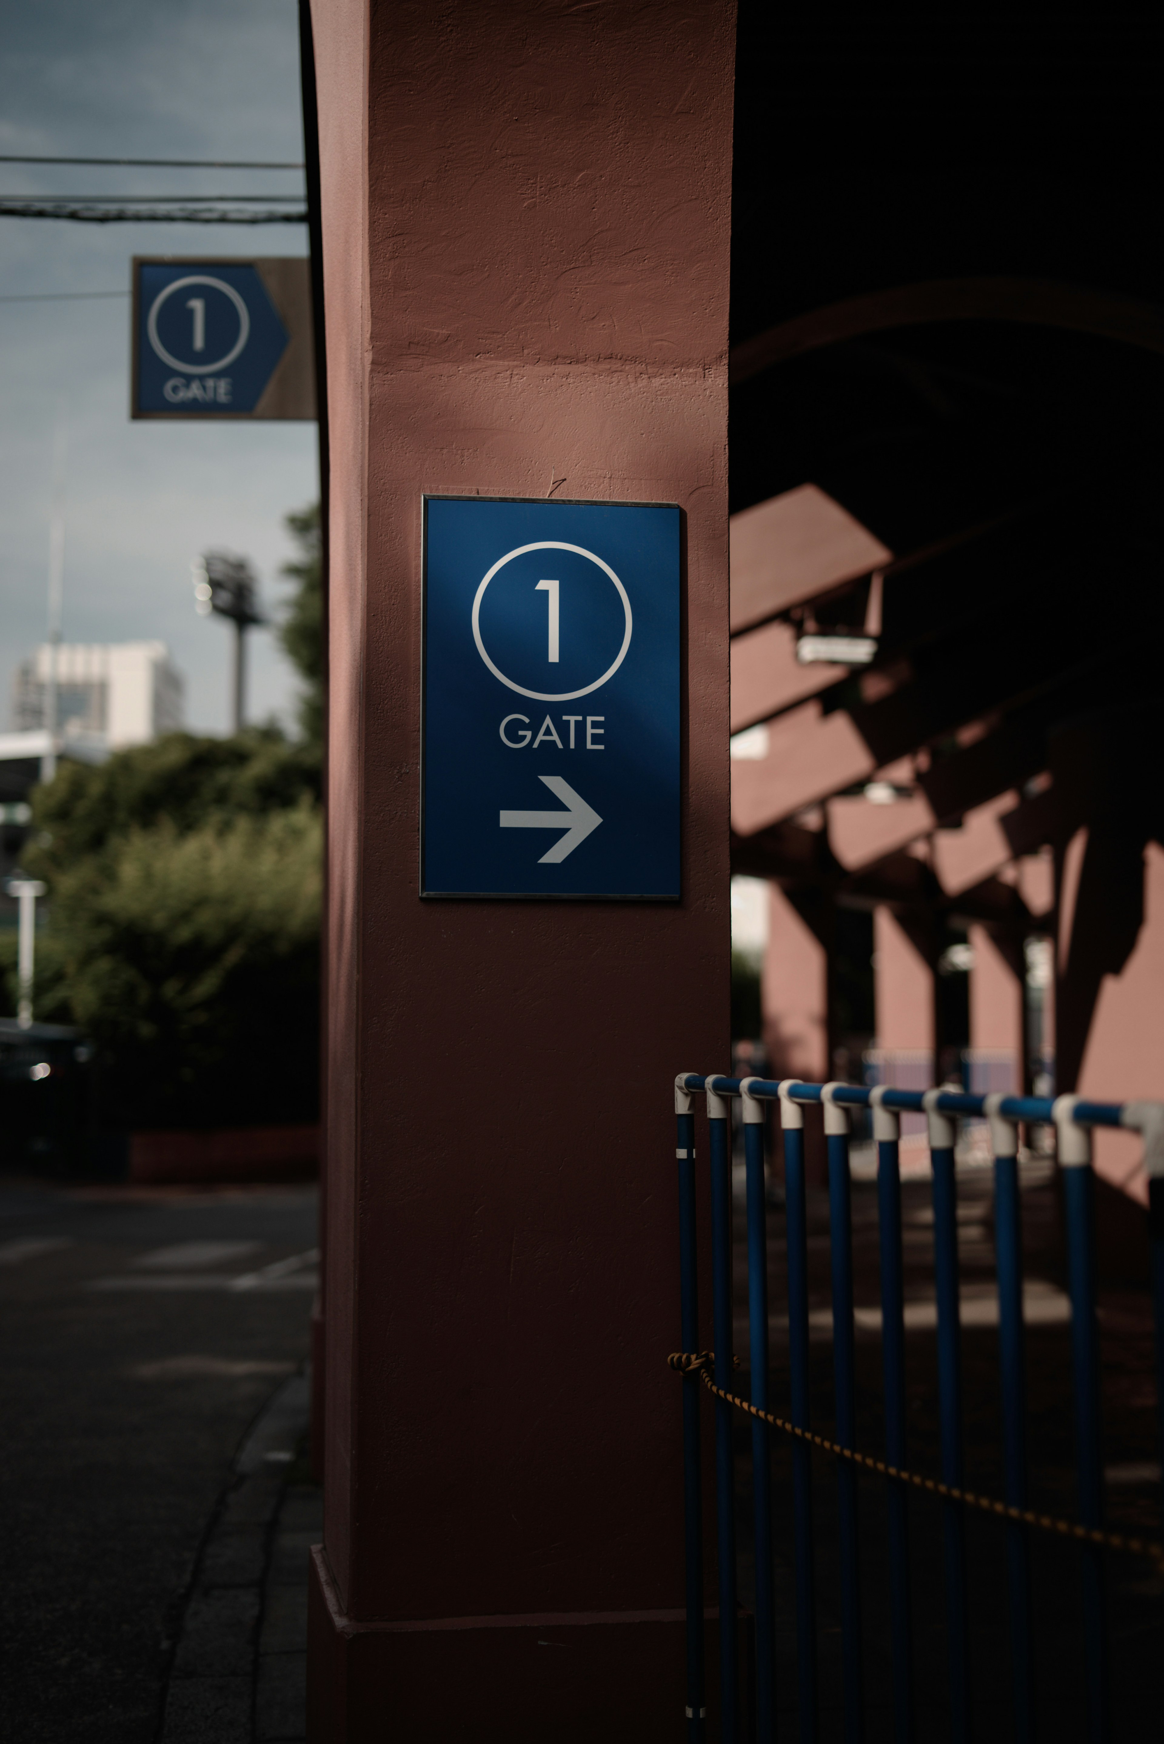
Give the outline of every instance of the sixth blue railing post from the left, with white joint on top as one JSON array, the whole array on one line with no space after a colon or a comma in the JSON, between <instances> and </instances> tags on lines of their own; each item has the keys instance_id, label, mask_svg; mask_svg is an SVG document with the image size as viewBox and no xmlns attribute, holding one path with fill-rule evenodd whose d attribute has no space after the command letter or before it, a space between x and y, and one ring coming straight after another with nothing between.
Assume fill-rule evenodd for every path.
<instances>
[{"instance_id":1,"label":"sixth blue railing post from the left, with white joint on top","mask_svg":"<svg viewBox=\"0 0 1164 1744\"><path fill-rule=\"evenodd\" d=\"M900 1118L883 1106L885 1085L869 1095L878 1146L878 1245L881 1257L881 1374L885 1458L906 1468L906 1294L900 1249ZM822 1092L824 1099L824 1092ZM894 1648L894 1737L913 1744L913 1615L909 1604L909 1507L900 1484L887 1493L890 1540L890 1638Z\"/></svg>"}]
</instances>

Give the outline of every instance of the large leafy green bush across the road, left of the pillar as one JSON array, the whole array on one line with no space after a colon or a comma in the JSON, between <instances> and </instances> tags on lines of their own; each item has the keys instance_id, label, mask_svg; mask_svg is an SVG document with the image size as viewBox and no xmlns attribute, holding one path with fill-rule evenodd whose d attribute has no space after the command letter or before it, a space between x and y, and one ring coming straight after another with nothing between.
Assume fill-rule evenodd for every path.
<instances>
[{"instance_id":1,"label":"large leafy green bush across the road, left of the pillar","mask_svg":"<svg viewBox=\"0 0 1164 1744\"><path fill-rule=\"evenodd\" d=\"M106 1125L314 1118L318 746L176 732L66 762L24 867L49 884L37 1017L98 1043Z\"/></svg>"}]
</instances>

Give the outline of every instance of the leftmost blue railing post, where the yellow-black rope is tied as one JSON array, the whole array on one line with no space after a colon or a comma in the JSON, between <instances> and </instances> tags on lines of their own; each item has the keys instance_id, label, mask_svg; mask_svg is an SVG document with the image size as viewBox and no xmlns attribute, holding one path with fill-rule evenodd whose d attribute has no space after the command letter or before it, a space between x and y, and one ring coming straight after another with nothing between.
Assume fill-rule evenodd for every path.
<instances>
[{"instance_id":1,"label":"leftmost blue railing post, where the yellow-black rope is tied","mask_svg":"<svg viewBox=\"0 0 1164 1744\"><path fill-rule=\"evenodd\" d=\"M675 1078L675 1162L679 1163L679 1317L681 1348L700 1348L696 1264L695 1114L686 1073ZM703 1744L703 1472L700 1454L700 1378L682 1378L682 1514L688 1610L688 1744Z\"/></svg>"}]
</instances>

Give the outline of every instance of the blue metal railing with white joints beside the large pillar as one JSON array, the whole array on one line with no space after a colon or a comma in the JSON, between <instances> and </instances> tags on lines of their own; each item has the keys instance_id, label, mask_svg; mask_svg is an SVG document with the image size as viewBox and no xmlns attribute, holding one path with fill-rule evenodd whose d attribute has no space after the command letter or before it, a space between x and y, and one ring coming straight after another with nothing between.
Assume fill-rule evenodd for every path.
<instances>
[{"instance_id":1,"label":"blue metal railing with white joints beside the large pillar","mask_svg":"<svg viewBox=\"0 0 1164 1744\"><path fill-rule=\"evenodd\" d=\"M934 1195L934 1282L937 1306L937 1407L942 1482L963 1486L962 1357L958 1285L958 1210L955 1188L955 1121L988 1121L995 1170L995 1271L998 1289L998 1353L1002 1381L1003 1496L1026 1509L1026 1376L1023 1322L1023 1231L1019 1195L1019 1121L1054 1127L1063 1174L1068 1292L1072 1310L1072 1374L1078 1521L1103 1523L1099 1458L1099 1343L1096 1322L1094 1177L1091 1127L1129 1127L1143 1134L1150 1181L1152 1301L1161 1390L1164 1451L1164 1104L1087 1102L1080 1097L970 1095L960 1090L897 1090L857 1085L808 1085L799 1080L728 1078L681 1073L675 1078L679 1123L682 1339L698 1352L696 1301L696 1165L693 1099L703 1095L709 1123L712 1193L712 1322L714 1383L733 1390L733 1228L729 1099L742 1106L745 1137L747 1299L750 1404L770 1411L768 1385L768 1240L764 1184L764 1104L780 1109L784 1139L789 1380L787 1421L810 1428L808 1371L808 1196L805 1172L805 1109L820 1106L827 1141L829 1247L832 1284L832 1378L836 1446L857 1448L855 1301L852 1240L850 1111L871 1109L878 1151L878 1238L881 1270L881 1374L885 1402L885 1463L907 1468L906 1446L906 1313L902 1264L902 1196L899 1160L900 1116L923 1114L928 1125ZM705 1737L703 1678L703 1526L700 1474L700 1378L684 1374L686 1545L688 1545L688 1737ZM738 1603L735 1543L733 1406L716 1399L716 1519L719 1547L719 1688L721 1737L743 1744L747 1692L738 1685ZM777 1735L777 1625L770 1425L752 1416L752 1529L756 1547L756 1737ZM792 1577L796 1604L798 1735L817 1739L817 1624L811 1528L811 1449L792 1442ZM864 1739L862 1618L859 1582L857 1470L838 1456L841 1681L846 1744ZM914 1739L913 1617L909 1584L909 1519L906 1484L888 1482L888 1620L892 1645L892 1714L895 1744ZM969 1627L965 1591L963 1505L942 1502L949 1735L970 1737ZM1035 1674L1028 1526L1009 1519L1007 1587L1014 1735L1035 1737ZM1087 1676L1087 1737L1108 1739L1108 1664L1105 1641L1103 1550L1080 1543L1082 1617Z\"/></svg>"}]
</instances>

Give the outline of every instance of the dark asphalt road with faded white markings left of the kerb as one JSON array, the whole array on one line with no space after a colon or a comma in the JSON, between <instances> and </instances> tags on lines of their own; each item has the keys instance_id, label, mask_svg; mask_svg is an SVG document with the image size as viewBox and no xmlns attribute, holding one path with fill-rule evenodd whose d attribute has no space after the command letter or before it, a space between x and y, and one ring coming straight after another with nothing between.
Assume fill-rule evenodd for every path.
<instances>
[{"instance_id":1,"label":"dark asphalt road with faded white markings left of the kerb","mask_svg":"<svg viewBox=\"0 0 1164 1744\"><path fill-rule=\"evenodd\" d=\"M0 1181L0 1737L150 1744L232 1454L307 1357L304 1188Z\"/></svg>"}]
</instances>

